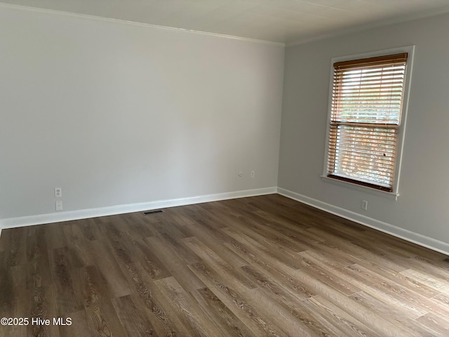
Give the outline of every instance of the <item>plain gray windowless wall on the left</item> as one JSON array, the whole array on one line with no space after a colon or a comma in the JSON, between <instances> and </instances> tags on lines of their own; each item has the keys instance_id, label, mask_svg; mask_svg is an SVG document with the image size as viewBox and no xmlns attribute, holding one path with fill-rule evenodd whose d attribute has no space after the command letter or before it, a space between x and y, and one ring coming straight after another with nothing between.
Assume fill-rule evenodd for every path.
<instances>
[{"instance_id":1,"label":"plain gray windowless wall on the left","mask_svg":"<svg viewBox=\"0 0 449 337\"><path fill-rule=\"evenodd\" d=\"M0 46L0 219L276 188L283 46L3 5Z\"/></svg>"}]
</instances>

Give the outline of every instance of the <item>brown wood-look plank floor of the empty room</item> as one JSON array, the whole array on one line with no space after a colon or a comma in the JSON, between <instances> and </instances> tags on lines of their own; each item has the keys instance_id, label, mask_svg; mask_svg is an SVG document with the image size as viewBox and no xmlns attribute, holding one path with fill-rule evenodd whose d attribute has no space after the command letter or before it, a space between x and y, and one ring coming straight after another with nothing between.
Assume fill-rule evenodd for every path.
<instances>
[{"instance_id":1,"label":"brown wood-look plank floor of the empty room","mask_svg":"<svg viewBox=\"0 0 449 337\"><path fill-rule=\"evenodd\" d=\"M278 194L8 229L0 336L449 336L445 258Z\"/></svg>"}]
</instances>

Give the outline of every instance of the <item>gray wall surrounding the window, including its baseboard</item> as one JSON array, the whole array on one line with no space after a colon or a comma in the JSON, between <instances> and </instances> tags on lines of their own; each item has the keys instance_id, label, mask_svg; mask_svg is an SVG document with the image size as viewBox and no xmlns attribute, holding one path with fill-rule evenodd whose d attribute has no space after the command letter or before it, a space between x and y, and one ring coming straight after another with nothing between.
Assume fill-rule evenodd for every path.
<instances>
[{"instance_id":1,"label":"gray wall surrounding the window, including its baseboard","mask_svg":"<svg viewBox=\"0 0 449 337\"><path fill-rule=\"evenodd\" d=\"M286 48L278 186L323 209L447 249L448 32L446 14ZM415 62L397 201L320 178L330 59L409 45L415 45ZM361 209L362 199L368 211Z\"/></svg>"}]
</instances>

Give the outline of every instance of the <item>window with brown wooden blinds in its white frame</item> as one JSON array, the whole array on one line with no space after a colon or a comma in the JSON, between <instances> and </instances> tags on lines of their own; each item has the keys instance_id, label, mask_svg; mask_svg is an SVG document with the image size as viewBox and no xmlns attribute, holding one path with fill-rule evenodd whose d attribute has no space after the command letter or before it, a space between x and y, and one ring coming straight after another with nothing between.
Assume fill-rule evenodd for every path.
<instances>
[{"instance_id":1,"label":"window with brown wooden blinds in its white frame","mask_svg":"<svg viewBox=\"0 0 449 337\"><path fill-rule=\"evenodd\" d=\"M326 176L396 192L408 59L333 62Z\"/></svg>"}]
</instances>

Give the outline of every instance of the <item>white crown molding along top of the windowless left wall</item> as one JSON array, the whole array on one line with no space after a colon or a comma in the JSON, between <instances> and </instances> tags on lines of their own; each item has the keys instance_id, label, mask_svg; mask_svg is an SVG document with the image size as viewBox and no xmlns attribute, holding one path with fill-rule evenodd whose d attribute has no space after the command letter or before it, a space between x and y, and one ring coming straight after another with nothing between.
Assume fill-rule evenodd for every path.
<instances>
[{"instance_id":1,"label":"white crown molding along top of the windowless left wall","mask_svg":"<svg viewBox=\"0 0 449 337\"><path fill-rule=\"evenodd\" d=\"M90 15L90 14L72 13L72 12L66 12L66 11L56 11L54 9L48 9L48 8L38 8L38 7L30 7L30 6L15 5L15 4L3 4L3 3L0 3L0 7L20 9L22 11L34 11L34 12L57 14L57 15L59 14L59 15L71 16L72 18L100 20L100 21L105 21L105 22L117 22L117 23L122 23L122 24L126 24L126 25L134 25L134 26L149 27L149 28L154 28L154 29L170 30L172 32L185 32L185 33L192 33L192 34L200 34L200 35L206 35L209 37L219 37L221 39L232 39L232 40L239 40L239 41L243 41L243 42L252 42L252 43L256 43L256 44L271 44L273 46L280 46L280 47L286 46L286 44L284 44L282 42L250 39L249 37L236 37L234 35L203 32L201 30L194 30L194 29L153 25L151 23L135 22L135 21L116 19L116 18L105 18L103 16Z\"/></svg>"}]
</instances>

